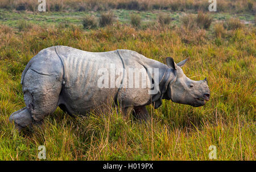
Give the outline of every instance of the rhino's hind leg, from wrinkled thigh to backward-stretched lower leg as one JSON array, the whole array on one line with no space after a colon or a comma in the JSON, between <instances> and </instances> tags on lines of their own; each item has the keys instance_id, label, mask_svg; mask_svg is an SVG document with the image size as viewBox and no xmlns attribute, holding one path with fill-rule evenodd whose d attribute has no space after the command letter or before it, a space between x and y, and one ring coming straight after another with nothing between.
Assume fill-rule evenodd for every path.
<instances>
[{"instance_id":1,"label":"rhino's hind leg, from wrinkled thigh to backward-stretched lower leg","mask_svg":"<svg viewBox=\"0 0 256 172\"><path fill-rule=\"evenodd\" d=\"M26 107L11 114L10 121L14 121L18 129L42 122L58 106L61 79L61 73L44 75L28 69L22 87Z\"/></svg>"}]
</instances>

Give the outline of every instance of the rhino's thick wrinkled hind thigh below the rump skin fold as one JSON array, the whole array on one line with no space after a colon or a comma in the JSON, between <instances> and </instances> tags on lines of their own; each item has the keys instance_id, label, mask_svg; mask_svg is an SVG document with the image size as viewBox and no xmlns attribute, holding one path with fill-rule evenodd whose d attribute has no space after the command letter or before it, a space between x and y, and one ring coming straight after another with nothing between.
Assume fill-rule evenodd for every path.
<instances>
[{"instance_id":1,"label":"rhino's thick wrinkled hind thigh below the rump skin fold","mask_svg":"<svg viewBox=\"0 0 256 172\"><path fill-rule=\"evenodd\" d=\"M24 77L24 101L35 121L43 120L58 106L62 73L44 75L28 70Z\"/></svg>"}]
</instances>

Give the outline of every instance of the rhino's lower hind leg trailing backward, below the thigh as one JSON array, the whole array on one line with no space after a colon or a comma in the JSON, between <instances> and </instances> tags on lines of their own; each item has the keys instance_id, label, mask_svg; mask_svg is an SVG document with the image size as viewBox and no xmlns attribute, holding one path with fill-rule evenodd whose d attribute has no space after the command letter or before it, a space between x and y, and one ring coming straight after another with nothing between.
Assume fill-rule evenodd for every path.
<instances>
[{"instance_id":1,"label":"rhino's lower hind leg trailing backward, below the thigh","mask_svg":"<svg viewBox=\"0 0 256 172\"><path fill-rule=\"evenodd\" d=\"M30 112L27 110L27 107L22 108L11 114L9 120L12 122L14 121L15 127L18 131L21 131L24 127L32 124L33 119L31 117Z\"/></svg>"}]
</instances>

